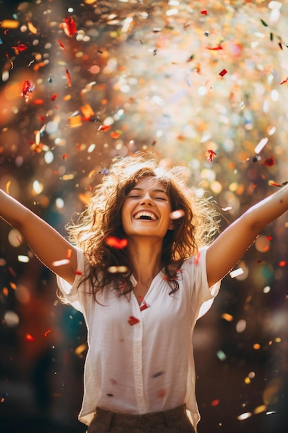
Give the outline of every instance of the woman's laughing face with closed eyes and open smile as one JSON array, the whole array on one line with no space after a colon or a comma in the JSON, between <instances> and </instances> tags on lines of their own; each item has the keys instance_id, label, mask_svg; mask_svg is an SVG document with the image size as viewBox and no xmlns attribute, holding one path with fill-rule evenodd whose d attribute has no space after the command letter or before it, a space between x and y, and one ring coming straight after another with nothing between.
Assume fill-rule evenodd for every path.
<instances>
[{"instance_id":1,"label":"woman's laughing face with closed eyes and open smile","mask_svg":"<svg viewBox=\"0 0 288 433\"><path fill-rule=\"evenodd\" d=\"M171 203L160 181L142 178L128 193L122 208L122 225L128 237L164 238L173 229Z\"/></svg>"}]
</instances>

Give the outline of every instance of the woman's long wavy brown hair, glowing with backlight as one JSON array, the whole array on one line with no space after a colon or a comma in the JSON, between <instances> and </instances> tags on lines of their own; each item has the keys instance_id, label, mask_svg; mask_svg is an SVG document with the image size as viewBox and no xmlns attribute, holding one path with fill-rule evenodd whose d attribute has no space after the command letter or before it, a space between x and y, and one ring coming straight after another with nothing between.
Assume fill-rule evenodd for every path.
<instances>
[{"instance_id":1,"label":"woman's long wavy brown hair, glowing with backlight","mask_svg":"<svg viewBox=\"0 0 288 433\"><path fill-rule=\"evenodd\" d=\"M177 270L184 260L211 243L218 230L218 213L208 199L195 196L186 185L184 172L184 167L162 167L151 154L116 158L108 174L95 187L84 212L76 222L71 220L68 223L66 229L70 242L83 250L90 264L90 273L81 278L80 284L90 280L90 293L96 302L97 293L106 286L112 287L119 295L127 296L133 291L130 279L133 267L128 249L109 246L106 239L125 239L122 208L128 193L142 178L150 176L160 181L169 196L172 212L184 211L179 219L173 221L174 230L168 230L163 239L161 268L171 288L170 294L179 288ZM124 273L111 273L114 266L121 266Z\"/></svg>"}]
</instances>

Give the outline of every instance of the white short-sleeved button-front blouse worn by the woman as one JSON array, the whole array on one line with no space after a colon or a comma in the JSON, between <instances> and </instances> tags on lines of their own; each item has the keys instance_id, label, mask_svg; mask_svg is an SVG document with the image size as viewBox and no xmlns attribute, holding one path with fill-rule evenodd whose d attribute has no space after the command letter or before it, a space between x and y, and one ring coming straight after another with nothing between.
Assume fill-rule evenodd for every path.
<instances>
[{"instance_id":1,"label":"white short-sleeved button-front blouse worn by the woman","mask_svg":"<svg viewBox=\"0 0 288 433\"><path fill-rule=\"evenodd\" d=\"M186 403L194 428L200 420L195 399L192 333L195 322L210 308L220 282L209 289L206 248L184 262L179 290L160 272L139 306L106 288L93 301L89 282L76 290L57 276L68 302L81 311L88 329L84 399L79 421L89 425L96 407L124 414L145 414ZM77 250L77 270L88 273L88 262ZM136 284L135 279L133 281ZM102 304L102 305L100 305Z\"/></svg>"}]
</instances>

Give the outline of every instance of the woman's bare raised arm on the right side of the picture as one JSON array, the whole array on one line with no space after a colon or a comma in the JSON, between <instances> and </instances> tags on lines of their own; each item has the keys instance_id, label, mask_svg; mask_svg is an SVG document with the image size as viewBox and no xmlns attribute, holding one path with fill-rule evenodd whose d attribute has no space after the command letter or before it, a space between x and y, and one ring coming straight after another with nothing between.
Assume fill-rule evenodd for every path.
<instances>
[{"instance_id":1,"label":"woman's bare raised arm on the right side of the picture","mask_svg":"<svg viewBox=\"0 0 288 433\"><path fill-rule=\"evenodd\" d=\"M288 185L253 205L213 241L207 251L209 286L238 263L262 228L288 210Z\"/></svg>"}]
</instances>

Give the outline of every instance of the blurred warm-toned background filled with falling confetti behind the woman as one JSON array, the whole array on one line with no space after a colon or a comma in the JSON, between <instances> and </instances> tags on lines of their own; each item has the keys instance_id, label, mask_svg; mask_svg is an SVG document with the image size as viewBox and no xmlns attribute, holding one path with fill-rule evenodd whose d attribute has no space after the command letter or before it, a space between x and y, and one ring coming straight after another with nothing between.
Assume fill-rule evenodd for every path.
<instances>
[{"instance_id":1,"label":"blurred warm-toned background filled with falling confetti behind the woman","mask_svg":"<svg viewBox=\"0 0 288 433\"><path fill-rule=\"evenodd\" d=\"M225 228L288 181L288 2L0 0L0 187L62 234L115 156L183 165ZM194 335L198 433L288 431L288 216ZM81 433L86 327L0 221L0 431Z\"/></svg>"}]
</instances>

